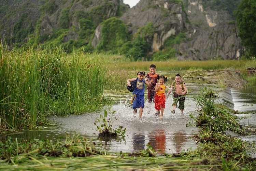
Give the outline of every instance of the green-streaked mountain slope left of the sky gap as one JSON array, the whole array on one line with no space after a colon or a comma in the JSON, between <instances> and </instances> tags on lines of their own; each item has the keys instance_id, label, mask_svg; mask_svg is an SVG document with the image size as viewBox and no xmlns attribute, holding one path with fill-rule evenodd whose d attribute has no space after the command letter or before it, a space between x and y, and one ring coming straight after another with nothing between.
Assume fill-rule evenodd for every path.
<instances>
[{"instance_id":1,"label":"green-streaked mountain slope left of the sky gap","mask_svg":"<svg viewBox=\"0 0 256 171\"><path fill-rule=\"evenodd\" d=\"M85 46L103 20L121 16L122 0L0 0L1 40L12 48L31 44ZM67 43L68 42L68 43Z\"/></svg>"}]
</instances>

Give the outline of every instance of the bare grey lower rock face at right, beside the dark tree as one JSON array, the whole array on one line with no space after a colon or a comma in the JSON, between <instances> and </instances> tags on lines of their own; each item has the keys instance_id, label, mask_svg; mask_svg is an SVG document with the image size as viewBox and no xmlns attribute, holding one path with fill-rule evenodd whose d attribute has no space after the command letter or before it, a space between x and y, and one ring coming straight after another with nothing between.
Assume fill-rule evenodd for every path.
<instances>
[{"instance_id":1,"label":"bare grey lower rock face at right, beside the dark tree","mask_svg":"<svg viewBox=\"0 0 256 171\"><path fill-rule=\"evenodd\" d=\"M175 45L179 60L239 59L243 46L235 24L221 23L208 29L191 28L187 43Z\"/></svg>"}]
</instances>

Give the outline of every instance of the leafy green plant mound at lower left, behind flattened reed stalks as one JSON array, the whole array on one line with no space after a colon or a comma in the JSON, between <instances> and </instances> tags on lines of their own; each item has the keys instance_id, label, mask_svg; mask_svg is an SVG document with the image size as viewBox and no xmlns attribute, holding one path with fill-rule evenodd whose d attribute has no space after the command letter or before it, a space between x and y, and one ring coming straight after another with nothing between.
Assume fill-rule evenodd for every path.
<instances>
[{"instance_id":1,"label":"leafy green plant mound at lower left, behind flattened reed stalks","mask_svg":"<svg viewBox=\"0 0 256 171\"><path fill-rule=\"evenodd\" d=\"M74 134L72 137L67 134L65 141L33 139L23 140L20 143L17 138L13 141L9 137L5 142L0 141L0 160L17 164L36 156L86 157L101 155L102 152L95 145L96 143L92 139L82 138L79 134ZM101 145L101 143L97 145Z\"/></svg>"}]
</instances>

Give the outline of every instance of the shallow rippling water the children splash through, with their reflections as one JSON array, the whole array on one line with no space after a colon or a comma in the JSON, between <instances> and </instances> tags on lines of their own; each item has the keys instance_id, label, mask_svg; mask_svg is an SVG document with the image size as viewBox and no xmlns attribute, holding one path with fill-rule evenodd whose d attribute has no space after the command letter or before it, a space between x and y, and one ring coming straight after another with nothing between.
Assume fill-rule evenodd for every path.
<instances>
[{"instance_id":1,"label":"shallow rippling water the children splash through, with their reflections","mask_svg":"<svg viewBox=\"0 0 256 171\"><path fill-rule=\"evenodd\" d=\"M188 89L192 93L198 93L201 88L195 84L187 84ZM219 97L216 101L219 101L225 105L228 105L231 109L238 111L256 111L255 101L255 89L236 90L232 88L225 88L219 92ZM82 115L72 115L68 117L52 117L55 123L59 124L54 127L44 127L41 129L26 131L22 134L15 134L12 137L18 139L58 139L60 136L66 137L65 132L68 134L80 134L81 136L92 138L95 142L102 142L104 144L102 149L106 149L111 152L133 152L139 149L145 149L146 145L150 145L155 149L161 149L161 153L179 153L182 149L195 149L197 144L193 140L189 139L189 136L197 133L200 129L193 126L186 126L192 120L189 117L190 113L197 115L196 104L192 99L186 98L184 115L176 108L176 113L172 114L171 103L172 97L166 101L166 109L164 110L163 119L155 117L154 106L151 106L151 112L147 113L150 108L150 104L145 102L145 108L142 114L142 119L132 116L132 108L129 104L131 94L117 95L113 98L118 99L118 104L112 106L108 110L110 114L112 111L116 111L114 116L117 120L114 122L112 128L123 126L126 128L125 138L116 139L98 139L97 127L94 122L99 118L98 113L86 113ZM154 104L154 103L153 103ZM139 113L139 112L138 112ZM252 112L255 113L255 112ZM103 114L103 112L101 112ZM255 126L256 114L240 114L241 123L246 123ZM1 139L7 136L1 136ZM253 142L255 136L242 137L244 140Z\"/></svg>"}]
</instances>

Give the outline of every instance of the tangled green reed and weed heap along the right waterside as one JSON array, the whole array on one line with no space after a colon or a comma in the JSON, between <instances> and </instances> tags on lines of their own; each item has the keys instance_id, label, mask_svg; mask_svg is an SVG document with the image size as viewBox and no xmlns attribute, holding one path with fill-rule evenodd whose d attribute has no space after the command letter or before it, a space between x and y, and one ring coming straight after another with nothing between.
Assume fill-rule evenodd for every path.
<instances>
[{"instance_id":1,"label":"tangled green reed and weed heap along the right waterside","mask_svg":"<svg viewBox=\"0 0 256 171\"><path fill-rule=\"evenodd\" d=\"M182 156L205 157L205 164L217 162L221 170L252 170L256 166L255 159L248 155L247 150L253 151L255 144L249 144L240 138L226 134L227 130L239 135L253 135L255 130L248 129L238 123L238 118L231 115L221 104L216 104L211 88L204 87L199 94L190 93L199 107L199 115L192 113L194 120L188 125L195 125L202 130L193 138L199 143L194 151L183 151Z\"/></svg>"}]
</instances>

